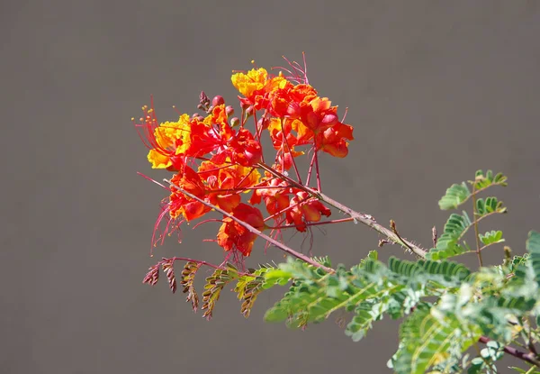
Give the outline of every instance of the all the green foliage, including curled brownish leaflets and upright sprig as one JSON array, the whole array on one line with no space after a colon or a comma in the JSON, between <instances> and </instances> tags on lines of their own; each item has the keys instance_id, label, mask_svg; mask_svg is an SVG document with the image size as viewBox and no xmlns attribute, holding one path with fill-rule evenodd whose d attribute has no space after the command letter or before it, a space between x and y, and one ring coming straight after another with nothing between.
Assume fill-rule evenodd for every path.
<instances>
[{"instance_id":1,"label":"all the green foliage, including curled brownish leaflets and upright sprig","mask_svg":"<svg viewBox=\"0 0 540 374\"><path fill-rule=\"evenodd\" d=\"M448 188L439 201L441 209L455 209L471 198L472 213L450 214L443 233L438 238L434 233L434 248L423 259L391 257L383 263L377 251L370 251L356 265L338 265L329 272L318 266L331 269L328 257L314 258L311 264L288 258L277 266L262 265L247 272L232 264L214 269L206 278L202 293L203 316L211 318L221 291L230 283L236 282L234 292L246 317L261 292L286 286L284 296L266 311L267 322L303 329L339 312L348 316L346 335L358 342L385 316L402 318L397 351L388 362L399 374L428 370L497 373L497 362L505 352L514 352L508 347L518 340L523 341L522 347L528 348L532 356L514 355L536 365L532 368L540 367L534 348L540 342L540 233L528 234L527 253L523 255L512 256L509 247L504 247L504 260L497 266L481 266L472 271L448 260L474 253L482 264L483 250L505 242L499 230L480 233L478 223L491 214L506 213L506 207L497 197L477 195L488 187L506 185L504 175L478 170L473 181ZM477 235L474 250L464 242L468 232ZM149 269L144 282L156 284L162 269L175 292L173 262L174 259L161 260ZM193 311L199 305L193 280L201 266L202 263L187 261L180 281ZM471 360L467 353L470 348L475 352ZM540 373L535 369L512 369Z\"/></svg>"}]
</instances>

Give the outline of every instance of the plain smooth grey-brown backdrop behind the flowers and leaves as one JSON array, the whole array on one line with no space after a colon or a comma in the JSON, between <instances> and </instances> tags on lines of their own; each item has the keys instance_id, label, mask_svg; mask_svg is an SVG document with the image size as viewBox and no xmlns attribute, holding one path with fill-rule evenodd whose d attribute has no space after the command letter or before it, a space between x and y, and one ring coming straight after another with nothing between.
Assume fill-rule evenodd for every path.
<instances>
[{"instance_id":1,"label":"plain smooth grey-brown backdrop behind the flowers and leaves","mask_svg":"<svg viewBox=\"0 0 540 374\"><path fill-rule=\"evenodd\" d=\"M149 169L130 118L150 94L161 120L175 118L172 105L192 113L201 89L233 103L231 69L282 65L305 50L311 83L340 113L348 106L355 125L347 159L322 159L329 196L393 218L428 246L431 226L446 220L437 208L446 187L502 170L510 187L497 193L510 213L483 228L504 228L522 252L527 231L540 229L538 5L3 2L0 372L388 371L393 322L358 343L332 321L304 333L264 324L284 289L261 296L247 320L226 292L206 322L165 283L143 286L161 256L221 253L201 242L215 234L208 225L148 257L165 193L136 172L166 174ZM312 250L335 263L353 265L377 242L360 225L325 232ZM265 257L262 242L255 252L249 265L283 259ZM487 262L500 255L493 248Z\"/></svg>"}]
</instances>

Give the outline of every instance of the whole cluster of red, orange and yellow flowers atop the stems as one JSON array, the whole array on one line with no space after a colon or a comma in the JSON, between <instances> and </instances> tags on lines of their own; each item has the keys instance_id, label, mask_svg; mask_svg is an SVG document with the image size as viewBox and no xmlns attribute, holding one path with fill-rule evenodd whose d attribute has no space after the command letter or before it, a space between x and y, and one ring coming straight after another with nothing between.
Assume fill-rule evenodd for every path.
<instances>
[{"instance_id":1,"label":"whole cluster of red, orange and yellow flowers atop the stems","mask_svg":"<svg viewBox=\"0 0 540 374\"><path fill-rule=\"evenodd\" d=\"M273 76L265 68L232 75L241 94L239 117L223 97L210 100L204 93L201 112L180 114L175 122L159 123L153 105L143 106L144 115L135 125L149 149L148 161L153 169L174 173L157 225L166 218L175 223L167 224L170 231L217 207L227 215L215 242L225 251L249 256L257 234L237 220L279 234L289 227L305 232L330 215L308 186L313 175L320 190L320 151L347 156L353 128L338 119L337 106L311 87L305 64L303 69L295 62L290 65L292 69L284 69L288 77L282 72ZM261 145L266 133L274 148L271 163L266 163ZM311 154L311 163L302 180L295 159L306 154ZM244 194L251 194L245 202ZM266 218L257 207L261 203Z\"/></svg>"}]
</instances>

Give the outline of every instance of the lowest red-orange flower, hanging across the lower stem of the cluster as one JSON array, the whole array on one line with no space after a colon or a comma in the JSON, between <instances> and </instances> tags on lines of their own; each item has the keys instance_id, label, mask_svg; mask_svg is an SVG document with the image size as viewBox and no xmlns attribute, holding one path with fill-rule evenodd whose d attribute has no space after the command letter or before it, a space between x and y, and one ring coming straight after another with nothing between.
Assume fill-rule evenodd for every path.
<instances>
[{"instance_id":1,"label":"lowest red-orange flower, hanging across the lower stem of the cluster","mask_svg":"<svg viewBox=\"0 0 540 374\"><path fill-rule=\"evenodd\" d=\"M266 227L261 211L247 204L238 205L232 211L232 215L259 231ZM250 233L245 227L229 217L223 218L223 224L221 224L218 233L218 244L225 251L239 251L242 255L249 256L256 239L256 233Z\"/></svg>"}]
</instances>

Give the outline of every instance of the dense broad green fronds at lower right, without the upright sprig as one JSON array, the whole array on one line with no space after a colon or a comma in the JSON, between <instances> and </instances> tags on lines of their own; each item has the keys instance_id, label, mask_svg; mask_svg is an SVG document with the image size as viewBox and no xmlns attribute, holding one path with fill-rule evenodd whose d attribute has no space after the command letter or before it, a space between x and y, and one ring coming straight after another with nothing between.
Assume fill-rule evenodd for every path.
<instances>
[{"instance_id":1,"label":"dense broad green fronds at lower right, without the upright sprig","mask_svg":"<svg viewBox=\"0 0 540 374\"><path fill-rule=\"evenodd\" d=\"M535 275L527 256L477 272L448 260L392 257L385 265L375 259L371 253L351 269L338 266L332 274L292 259L266 271L269 279L293 282L266 312L266 321L305 327L341 309L352 315L345 333L359 341L384 315L409 315L401 324L399 349L389 362L396 372L423 373L430 367L455 372L464 352L481 335L494 342L469 362L469 372L486 372L499 360L500 344L519 333L519 321L536 314L538 287L530 286Z\"/></svg>"}]
</instances>

